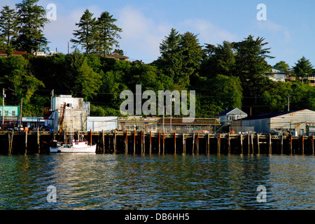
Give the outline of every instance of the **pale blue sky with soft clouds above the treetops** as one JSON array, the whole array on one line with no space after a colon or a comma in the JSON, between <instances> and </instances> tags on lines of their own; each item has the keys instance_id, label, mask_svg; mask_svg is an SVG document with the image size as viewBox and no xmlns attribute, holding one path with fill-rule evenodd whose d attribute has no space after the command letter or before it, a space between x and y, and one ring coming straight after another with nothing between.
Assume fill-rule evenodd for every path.
<instances>
[{"instance_id":1,"label":"pale blue sky with soft clouds above the treetops","mask_svg":"<svg viewBox=\"0 0 315 224\"><path fill-rule=\"evenodd\" d=\"M0 0L0 6L15 7L22 0ZM242 41L248 35L265 38L271 48L270 65L285 61L290 67L306 57L315 67L314 0L39 0L47 13L56 6L56 20L45 25L51 51L67 53L68 41L85 9L98 18L108 11L122 28L119 39L130 60L153 62L160 56L160 43L174 28L183 34L198 34L201 45ZM262 3L265 8L258 8ZM52 14L50 14L52 15ZM262 16L265 16L263 18ZM259 20L258 20L259 18ZM263 18L264 20L261 20ZM73 45L69 42L70 52Z\"/></svg>"}]
</instances>

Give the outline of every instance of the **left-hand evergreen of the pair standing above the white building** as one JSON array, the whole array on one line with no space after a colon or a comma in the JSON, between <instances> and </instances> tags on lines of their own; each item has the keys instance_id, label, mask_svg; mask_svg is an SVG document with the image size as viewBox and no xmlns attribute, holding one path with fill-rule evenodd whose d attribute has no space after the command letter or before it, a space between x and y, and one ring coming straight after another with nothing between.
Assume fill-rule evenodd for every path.
<instances>
[{"instance_id":1,"label":"left-hand evergreen of the pair standing above the white building","mask_svg":"<svg viewBox=\"0 0 315 224\"><path fill-rule=\"evenodd\" d=\"M86 9L80 18L80 22L76 23L79 29L74 30L73 36L77 39L71 39L74 43L73 47L81 45L82 49L85 49L85 54L88 54L94 50L95 45L95 18L92 18L93 13Z\"/></svg>"}]
</instances>

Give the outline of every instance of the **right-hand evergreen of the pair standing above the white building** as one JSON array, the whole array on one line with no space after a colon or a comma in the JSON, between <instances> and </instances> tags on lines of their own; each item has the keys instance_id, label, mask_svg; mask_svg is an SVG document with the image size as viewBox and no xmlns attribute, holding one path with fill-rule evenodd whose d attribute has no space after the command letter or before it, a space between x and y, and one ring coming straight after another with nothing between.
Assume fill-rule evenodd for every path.
<instances>
[{"instance_id":1,"label":"right-hand evergreen of the pair standing above the white building","mask_svg":"<svg viewBox=\"0 0 315 224\"><path fill-rule=\"evenodd\" d=\"M117 20L110 15L109 12L104 12L96 21L96 50L103 56L109 54L113 50L113 45L119 48L116 38L121 38L119 32L123 31L114 24Z\"/></svg>"}]
</instances>

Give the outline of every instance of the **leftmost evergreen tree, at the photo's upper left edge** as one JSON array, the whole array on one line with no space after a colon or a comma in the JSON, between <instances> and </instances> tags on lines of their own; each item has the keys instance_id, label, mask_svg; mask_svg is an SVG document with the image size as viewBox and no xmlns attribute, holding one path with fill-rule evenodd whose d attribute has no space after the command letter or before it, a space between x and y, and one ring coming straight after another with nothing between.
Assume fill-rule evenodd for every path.
<instances>
[{"instance_id":1,"label":"leftmost evergreen tree, at the photo's upper left edge","mask_svg":"<svg viewBox=\"0 0 315 224\"><path fill-rule=\"evenodd\" d=\"M0 36L6 43L6 50L10 55L12 53L11 42L18 37L18 21L15 9L11 9L9 6L3 6L3 10L0 12Z\"/></svg>"}]
</instances>

